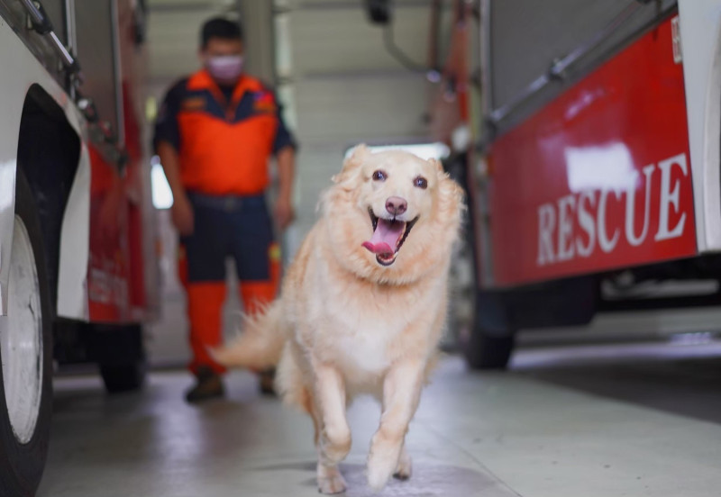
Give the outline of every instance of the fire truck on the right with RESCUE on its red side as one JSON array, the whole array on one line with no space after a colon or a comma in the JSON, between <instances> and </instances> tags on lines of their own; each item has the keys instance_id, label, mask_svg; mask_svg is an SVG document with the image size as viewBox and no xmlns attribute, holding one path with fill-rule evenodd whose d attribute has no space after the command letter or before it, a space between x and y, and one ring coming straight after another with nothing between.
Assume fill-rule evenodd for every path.
<instances>
[{"instance_id":1,"label":"fire truck on the right with RESCUE on its red side","mask_svg":"<svg viewBox=\"0 0 721 497\"><path fill-rule=\"evenodd\" d=\"M470 365L506 366L520 329L721 304L721 1L434 5L452 13L431 116L470 198Z\"/></svg>"}]
</instances>

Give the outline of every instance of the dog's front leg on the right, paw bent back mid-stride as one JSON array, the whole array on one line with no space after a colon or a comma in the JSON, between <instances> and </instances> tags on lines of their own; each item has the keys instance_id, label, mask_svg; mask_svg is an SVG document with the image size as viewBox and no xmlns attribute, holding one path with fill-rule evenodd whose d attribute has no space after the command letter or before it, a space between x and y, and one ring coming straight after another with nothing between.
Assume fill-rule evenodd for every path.
<instances>
[{"instance_id":1,"label":"dog's front leg on the right, paw bent back mid-stride","mask_svg":"<svg viewBox=\"0 0 721 497\"><path fill-rule=\"evenodd\" d=\"M399 467L408 425L413 419L423 386L424 364L406 360L391 367L383 382L383 415L370 443L368 484L378 492ZM404 455L402 465L410 475L410 458Z\"/></svg>"}]
</instances>

